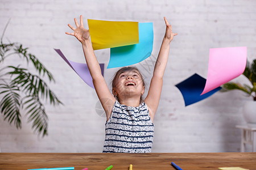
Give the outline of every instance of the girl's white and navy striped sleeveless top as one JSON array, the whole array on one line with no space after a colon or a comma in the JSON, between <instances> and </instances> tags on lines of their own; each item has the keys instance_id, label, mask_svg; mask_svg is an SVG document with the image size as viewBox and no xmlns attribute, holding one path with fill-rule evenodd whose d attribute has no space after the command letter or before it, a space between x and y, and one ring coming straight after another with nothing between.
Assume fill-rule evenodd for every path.
<instances>
[{"instance_id":1,"label":"girl's white and navy striped sleeveless top","mask_svg":"<svg viewBox=\"0 0 256 170\"><path fill-rule=\"evenodd\" d=\"M154 137L154 124L144 101L128 107L115 101L106 122L103 152L148 153Z\"/></svg>"}]
</instances>

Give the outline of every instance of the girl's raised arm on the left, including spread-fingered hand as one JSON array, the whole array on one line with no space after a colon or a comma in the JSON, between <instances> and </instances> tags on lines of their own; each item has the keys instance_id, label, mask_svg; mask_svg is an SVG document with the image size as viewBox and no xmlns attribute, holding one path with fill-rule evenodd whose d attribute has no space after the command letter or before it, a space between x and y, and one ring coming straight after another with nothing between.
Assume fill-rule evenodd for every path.
<instances>
[{"instance_id":1,"label":"girl's raised arm on the left, including spread-fingered hand","mask_svg":"<svg viewBox=\"0 0 256 170\"><path fill-rule=\"evenodd\" d=\"M105 82L104 77L101 74L101 68L98 63L98 60L95 56L95 53L90 42L90 33L89 29L84 28L84 23L82 22L82 15L80 15L80 25L77 22L76 18L75 24L76 28L68 24L68 26L74 31L72 33L66 32L67 35L72 35L77 38L82 44L82 49L84 50L84 56L90 75L92 75L93 85L98 95L98 99L101 101L101 105L106 112L107 120L109 120L110 114L112 113L112 108L115 103L115 97L109 91L109 88Z\"/></svg>"}]
</instances>

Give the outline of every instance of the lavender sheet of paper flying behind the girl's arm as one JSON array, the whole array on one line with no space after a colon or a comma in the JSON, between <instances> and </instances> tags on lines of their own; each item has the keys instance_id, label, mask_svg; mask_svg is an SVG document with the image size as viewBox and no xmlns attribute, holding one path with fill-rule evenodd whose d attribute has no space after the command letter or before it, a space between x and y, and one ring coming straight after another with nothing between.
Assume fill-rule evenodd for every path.
<instances>
[{"instance_id":1,"label":"lavender sheet of paper flying behind the girl's arm","mask_svg":"<svg viewBox=\"0 0 256 170\"><path fill-rule=\"evenodd\" d=\"M67 59L60 49L55 49L55 51L60 55L61 58L64 59L65 62L80 76L82 80L90 87L94 88L92 76L90 75L90 71L88 66L85 63L73 62ZM104 63L100 63L101 74L104 75Z\"/></svg>"}]
</instances>

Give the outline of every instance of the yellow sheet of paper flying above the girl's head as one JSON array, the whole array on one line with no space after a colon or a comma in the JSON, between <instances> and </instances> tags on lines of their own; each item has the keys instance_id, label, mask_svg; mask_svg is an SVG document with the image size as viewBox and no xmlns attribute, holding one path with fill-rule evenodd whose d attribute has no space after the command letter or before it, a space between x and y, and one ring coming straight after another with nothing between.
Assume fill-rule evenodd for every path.
<instances>
[{"instance_id":1,"label":"yellow sheet of paper flying above the girl's head","mask_svg":"<svg viewBox=\"0 0 256 170\"><path fill-rule=\"evenodd\" d=\"M94 50L139 43L138 22L113 22L88 19Z\"/></svg>"}]
</instances>

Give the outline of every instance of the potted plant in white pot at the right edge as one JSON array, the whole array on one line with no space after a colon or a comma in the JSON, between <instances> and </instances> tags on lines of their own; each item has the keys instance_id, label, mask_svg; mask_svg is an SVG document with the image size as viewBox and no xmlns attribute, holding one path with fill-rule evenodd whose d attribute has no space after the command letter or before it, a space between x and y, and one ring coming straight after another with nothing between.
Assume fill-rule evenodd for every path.
<instances>
[{"instance_id":1,"label":"potted plant in white pot at the right edge","mask_svg":"<svg viewBox=\"0 0 256 170\"><path fill-rule=\"evenodd\" d=\"M248 124L256 124L256 59L246 63L243 75L249 79L250 84L229 82L224 84L221 91L241 90L252 97L253 100L246 101L243 106L243 117Z\"/></svg>"}]
</instances>

